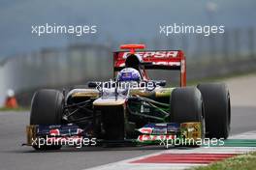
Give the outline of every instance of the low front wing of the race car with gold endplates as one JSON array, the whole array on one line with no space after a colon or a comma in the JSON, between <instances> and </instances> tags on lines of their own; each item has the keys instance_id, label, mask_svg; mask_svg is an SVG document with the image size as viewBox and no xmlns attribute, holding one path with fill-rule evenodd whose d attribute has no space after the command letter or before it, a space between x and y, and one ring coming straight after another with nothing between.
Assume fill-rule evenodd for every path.
<instances>
[{"instance_id":1,"label":"low front wing of the race car with gold endplates","mask_svg":"<svg viewBox=\"0 0 256 170\"><path fill-rule=\"evenodd\" d=\"M76 145L81 141L84 142L85 139L87 141L85 146L100 144L195 146L197 141L202 139L204 132L201 122L147 124L137 130L140 134L135 139L104 140L94 138L91 131L84 131L75 124L30 125L26 127L27 142L23 145L38 145L35 141L41 139L48 140L51 143L55 142L58 145L69 145L70 141L73 141L72 144Z\"/></svg>"}]
</instances>

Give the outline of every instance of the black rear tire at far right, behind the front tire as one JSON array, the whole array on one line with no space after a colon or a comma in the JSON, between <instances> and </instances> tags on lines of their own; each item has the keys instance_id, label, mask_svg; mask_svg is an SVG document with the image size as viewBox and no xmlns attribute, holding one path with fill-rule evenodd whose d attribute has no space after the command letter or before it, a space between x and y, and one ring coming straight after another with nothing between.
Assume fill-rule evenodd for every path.
<instances>
[{"instance_id":1,"label":"black rear tire at far right, behind the front tire","mask_svg":"<svg viewBox=\"0 0 256 170\"><path fill-rule=\"evenodd\" d=\"M230 132L230 95L225 84L199 84L206 111L206 136L228 138Z\"/></svg>"}]
</instances>

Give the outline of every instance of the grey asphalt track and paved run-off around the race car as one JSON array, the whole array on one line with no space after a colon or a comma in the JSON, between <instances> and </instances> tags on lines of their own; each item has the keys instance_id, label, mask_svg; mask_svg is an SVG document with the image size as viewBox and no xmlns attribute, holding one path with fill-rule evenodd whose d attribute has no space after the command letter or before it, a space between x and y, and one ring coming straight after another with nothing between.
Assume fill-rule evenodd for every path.
<instances>
[{"instance_id":1,"label":"grey asphalt track and paved run-off around the race car","mask_svg":"<svg viewBox=\"0 0 256 170\"><path fill-rule=\"evenodd\" d=\"M232 103L231 133L256 130L256 75L225 81ZM54 152L36 152L21 147L25 142L28 112L0 112L0 169L2 170L81 170L137 156L162 152L163 147L63 148Z\"/></svg>"}]
</instances>

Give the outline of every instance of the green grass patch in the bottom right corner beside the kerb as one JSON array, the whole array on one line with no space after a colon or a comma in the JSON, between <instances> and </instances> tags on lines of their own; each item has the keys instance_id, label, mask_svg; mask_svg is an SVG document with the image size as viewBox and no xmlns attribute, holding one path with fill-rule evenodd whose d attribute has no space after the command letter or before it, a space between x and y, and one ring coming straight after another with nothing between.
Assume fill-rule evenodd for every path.
<instances>
[{"instance_id":1,"label":"green grass patch in the bottom right corner beside the kerb","mask_svg":"<svg viewBox=\"0 0 256 170\"><path fill-rule=\"evenodd\" d=\"M254 170L256 169L256 152L227 158L208 166L194 167L192 170Z\"/></svg>"}]
</instances>

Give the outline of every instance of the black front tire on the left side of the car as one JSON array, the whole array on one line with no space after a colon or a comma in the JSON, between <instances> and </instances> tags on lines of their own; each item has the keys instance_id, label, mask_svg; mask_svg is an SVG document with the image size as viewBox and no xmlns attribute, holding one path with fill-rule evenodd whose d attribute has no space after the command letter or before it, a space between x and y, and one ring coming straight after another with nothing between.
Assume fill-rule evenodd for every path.
<instances>
[{"instance_id":1,"label":"black front tire on the left side of the car","mask_svg":"<svg viewBox=\"0 0 256 170\"><path fill-rule=\"evenodd\" d=\"M64 97L56 90L44 89L36 92L31 103L30 125L60 125L63 113ZM58 150L60 145L35 145L35 150Z\"/></svg>"}]
</instances>

